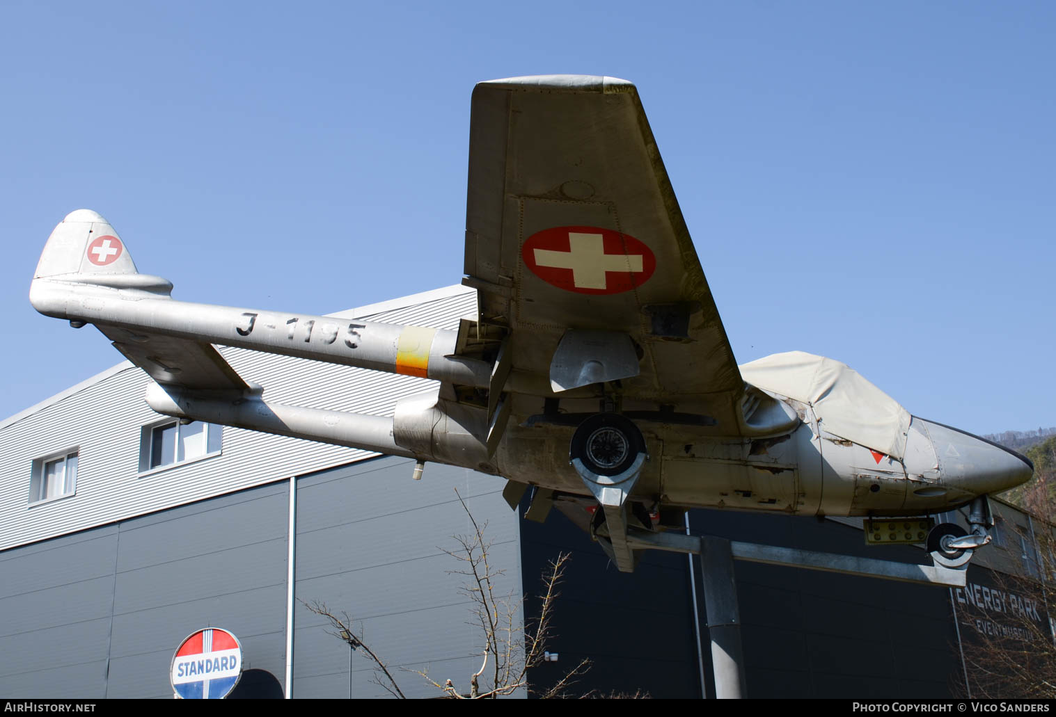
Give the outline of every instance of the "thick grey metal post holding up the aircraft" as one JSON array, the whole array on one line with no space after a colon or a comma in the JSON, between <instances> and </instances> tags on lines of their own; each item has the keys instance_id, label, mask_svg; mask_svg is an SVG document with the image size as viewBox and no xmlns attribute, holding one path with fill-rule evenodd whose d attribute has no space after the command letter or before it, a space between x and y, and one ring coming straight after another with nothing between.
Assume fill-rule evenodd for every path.
<instances>
[{"instance_id":1,"label":"thick grey metal post holding up the aircraft","mask_svg":"<svg viewBox=\"0 0 1056 717\"><path fill-rule=\"evenodd\" d=\"M740 699L746 692L744 653L729 540L700 539L700 570L704 583L708 632L712 639L715 696L718 699Z\"/></svg>"}]
</instances>

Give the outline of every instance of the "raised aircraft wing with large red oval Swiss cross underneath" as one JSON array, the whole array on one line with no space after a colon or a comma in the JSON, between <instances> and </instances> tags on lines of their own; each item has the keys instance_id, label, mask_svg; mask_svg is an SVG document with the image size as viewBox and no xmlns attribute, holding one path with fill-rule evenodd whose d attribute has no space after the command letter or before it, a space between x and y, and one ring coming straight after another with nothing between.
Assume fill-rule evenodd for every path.
<instances>
[{"instance_id":1,"label":"raised aircraft wing with large red oval Swiss cross underneath","mask_svg":"<svg viewBox=\"0 0 1056 717\"><path fill-rule=\"evenodd\" d=\"M514 370L553 380L569 329L625 333L626 396L702 404L737 432L743 382L634 84L477 84L466 225L464 283L508 330Z\"/></svg>"}]
</instances>

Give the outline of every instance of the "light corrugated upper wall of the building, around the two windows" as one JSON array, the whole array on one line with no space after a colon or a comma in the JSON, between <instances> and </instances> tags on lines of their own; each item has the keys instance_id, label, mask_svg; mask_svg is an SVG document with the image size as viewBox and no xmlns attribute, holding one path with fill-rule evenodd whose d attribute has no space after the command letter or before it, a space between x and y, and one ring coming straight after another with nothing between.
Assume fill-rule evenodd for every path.
<instances>
[{"instance_id":1,"label":"light corrugated upper wall of the building, around the two windows","mask_svg":"<svg viewBox=\"0 0 1056 717\"><path fill-rule=\"evenodd\" d=\"M361 317L455 328L474 309L474 292L450 287L369 307ZM222 352L245 379L265 386L269 400L314 408L388 415L398 398L433 383L242 349ZM137 478L140 427L161 418L143 400L148 381L130 367L2 424L0 549L374 456L225 428L223 454ZM76 496L29 507L33 461L73 448L80 452Z\"/></svg>"}]
</instances>

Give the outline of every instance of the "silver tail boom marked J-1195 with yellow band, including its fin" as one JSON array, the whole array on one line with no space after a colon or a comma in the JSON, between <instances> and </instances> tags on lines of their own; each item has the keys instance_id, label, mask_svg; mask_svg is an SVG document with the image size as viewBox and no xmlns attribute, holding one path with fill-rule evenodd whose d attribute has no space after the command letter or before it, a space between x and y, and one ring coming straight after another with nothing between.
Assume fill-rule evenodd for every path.
<instances>
[{"instance_id":1,"label":"silver tail boom marked J-1195 with yellow band, including its fin","mask_svg":"<svg viewBox=\"0 0 1056 717\"><path fill-rule=\"evenodd\" d=\"M100 241L99 236L107 238ZM166 279L136 272L102 217L78 210L52 233L30 301L44 315L95 324L116 343L147 349L152 336L163 335L460 386L487 388L491 380L488 363L454 355L455 331L177 302L171 290Z\"/></svg>"}]
</instances>

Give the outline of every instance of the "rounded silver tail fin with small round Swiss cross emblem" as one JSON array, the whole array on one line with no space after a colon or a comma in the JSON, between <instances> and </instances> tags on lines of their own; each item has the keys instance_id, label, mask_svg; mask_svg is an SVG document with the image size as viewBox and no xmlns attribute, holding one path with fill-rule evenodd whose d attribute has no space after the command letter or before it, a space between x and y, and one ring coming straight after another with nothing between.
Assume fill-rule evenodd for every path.
<instances>
[{"instance_id":1,"label":"rounded silver tail fin with small round Swiss cross emblem","mask_svg":"<svg viewBox=\"0 0 1056 717\"><path fill-rule=\"evenodd\" d=\"M110 222L90 209L78 209L67 214L48 237L33 277L137 273L132 255Z\"/></svg>"}]
</instances>

